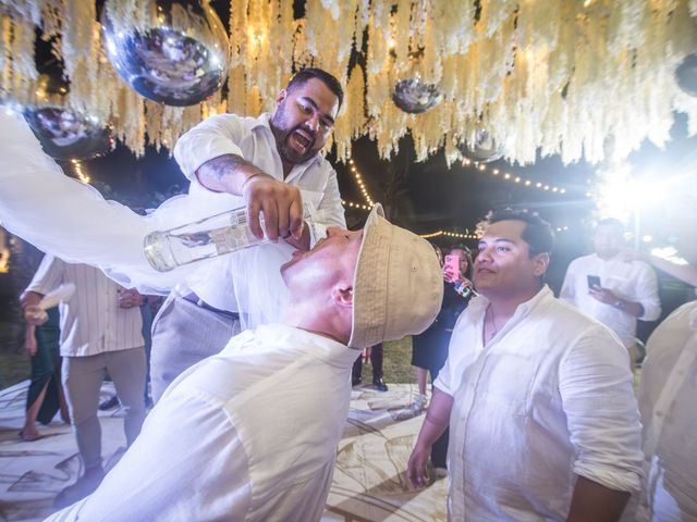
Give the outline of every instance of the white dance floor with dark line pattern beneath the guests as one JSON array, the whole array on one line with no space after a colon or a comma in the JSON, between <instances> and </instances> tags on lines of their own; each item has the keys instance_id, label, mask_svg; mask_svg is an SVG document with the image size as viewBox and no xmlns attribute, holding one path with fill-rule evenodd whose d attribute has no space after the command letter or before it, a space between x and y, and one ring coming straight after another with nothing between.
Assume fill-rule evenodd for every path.
<instances>
[{"instance_id":1,"label":"white dance floor with dark line pattern beneath the guests","mask_svg":"<svg viewBox=\"0 0 697 522\"><path fill-rule=\"evenodd\" d=\"M81 473L70 426L53 421L39 427L44 438L34 443L19 438L27 384L0 391L0 521L42 520L53 512L58 492ZM105 383L102 395L112 390L111 383ZM406 384L390 385L387 393L370 386L353 390L323 521L445 520L448 481L411 492L403 477L424 419L423 414L406 414L414 395L413 386ZM100 412L100 417L102 455L109 467L125 444L123 423L118 409Z\"/></svg>"}]
</instances>

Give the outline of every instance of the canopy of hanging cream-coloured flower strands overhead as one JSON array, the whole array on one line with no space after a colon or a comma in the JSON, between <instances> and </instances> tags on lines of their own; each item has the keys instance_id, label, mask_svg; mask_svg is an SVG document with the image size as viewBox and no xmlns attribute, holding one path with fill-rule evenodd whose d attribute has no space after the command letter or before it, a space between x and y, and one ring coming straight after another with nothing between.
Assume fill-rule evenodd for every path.
<instances>
[{"instance_id":1,"label":"canopy of hanging cream-coloured flower strands overhead","mask_svg":"<svg viewBox=\"0 0 697 522\"><path fill-rule=\"evenodd\" d=\"M134 28L158 9L157 0L107 2ZM194 2L173 3L195 15ZM231 0L227 87L171 107L142 98L114 72L95 2L0 0L0 101L36 102L39 26L63 60L66 103L110 122L136 154L146 142L172 147L213 113L272 110L305 66L346 86L333 133L340 160L359 136L389 157L411 133L418 160L444 147L452 162L484 129L512 162L534 162L539 151L596 163L622 159L647 138L661 146L674 111L697 133L697 97L675 79L697 49L697 0L306 0L301 18L293 3ZM408 79L436 86L442 101L404 112L392 97Z\"/></svg>"}]
</instances>

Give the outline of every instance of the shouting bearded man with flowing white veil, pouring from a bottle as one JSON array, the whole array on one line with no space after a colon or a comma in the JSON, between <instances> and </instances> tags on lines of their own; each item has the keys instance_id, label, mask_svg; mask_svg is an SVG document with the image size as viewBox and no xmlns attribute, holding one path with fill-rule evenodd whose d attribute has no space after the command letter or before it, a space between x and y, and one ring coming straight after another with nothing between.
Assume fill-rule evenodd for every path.
<instances>
[{"instance_id":1,"label":"shouting bearded man with flowing white veil, pouring from a bottle","mask_svg":"<svg viewBox=\"0 0 697 522\"><path fill-rule=\"evenodd\" d=\"M41 250L69 262L97 265L125 287L146 294L173 289L152 325L151 385L157 400L182 371L220 351L241 331L241 312L249 312L241 308L257 299L258 290L248 288L246 275L235 264L247 252L205 268L157 273L143 254L145 236L246 207L250 228L261 237L262 213L268 237L284 239L259 247L265 249L268 286L284 294L278 268L294 249L307 250L316 239L303 222L303 202L317 209L318 236L321 225L345 226L337 173L320 154L342 101L335 77L306 69L281 90L273 114L257 119L221 114L201 122L174 148L192 181L188 195L166 201L146 217L106 202L90 187L70 183L40 153L25 125L0 114L7 152L0 158L4 187L0 220ZM70 241L64 240L66 235ZM271 306L262 310L264 321L278 321L280 304L267 302Z\"/></svg>"}]
</instances>

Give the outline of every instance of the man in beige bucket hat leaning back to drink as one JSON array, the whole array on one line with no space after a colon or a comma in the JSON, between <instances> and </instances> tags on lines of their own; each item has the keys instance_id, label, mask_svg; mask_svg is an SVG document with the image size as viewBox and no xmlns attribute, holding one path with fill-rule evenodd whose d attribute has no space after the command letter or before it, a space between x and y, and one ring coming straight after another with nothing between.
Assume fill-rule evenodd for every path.
<instances>
[{"instance_id":1,"label":"man in beige bucket hat leaning back to drink","mask_svg":"<svg viewBox=\"0 0 697 522\"><path fill-rule=\"evenodd\" d=\"M442 276L428 241L379 204L363 231L330 227L281 274L283 324L178 377L100 487L50 521L320 519L355 350L426 330Z\"/></svg>"}]
</instances>

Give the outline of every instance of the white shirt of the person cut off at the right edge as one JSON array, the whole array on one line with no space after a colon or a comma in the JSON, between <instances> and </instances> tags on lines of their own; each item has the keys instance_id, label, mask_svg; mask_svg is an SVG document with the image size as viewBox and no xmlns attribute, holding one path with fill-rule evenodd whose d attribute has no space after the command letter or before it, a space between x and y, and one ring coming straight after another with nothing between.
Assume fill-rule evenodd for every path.
<instances>
[{"instance_id":1,"label":"white shirt of the person cut off at the right edge","mask_svg":"<svg viewBox=\"0 0 697 522\"><path fill-rule=\"evenodd\" d=\"M697 301L649 338L639 409L649 468L636 520L697 522Z\"/></svg>"}]
</instances>

